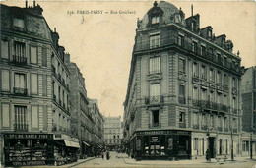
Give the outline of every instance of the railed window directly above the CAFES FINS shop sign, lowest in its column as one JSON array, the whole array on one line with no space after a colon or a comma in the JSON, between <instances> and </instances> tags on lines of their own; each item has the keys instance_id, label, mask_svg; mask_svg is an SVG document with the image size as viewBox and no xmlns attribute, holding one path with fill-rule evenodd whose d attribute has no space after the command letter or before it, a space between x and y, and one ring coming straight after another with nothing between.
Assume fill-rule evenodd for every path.
<instances>
[{"instance_id":1,"label":"railed window directly above the CAFES FINS shop sign, lowest in its column","mask_svg":"<svg viewBox=\"0 0 256 168\"><path fill-rule=\"evenodd\" d=\"M15 114L15 130L26 130L27 129L27 107L26 106L14 106Z\"/></svg>"}]
</instances>

